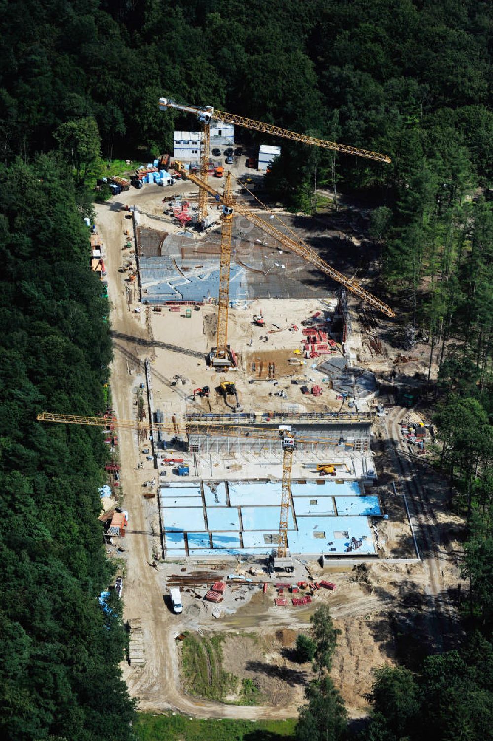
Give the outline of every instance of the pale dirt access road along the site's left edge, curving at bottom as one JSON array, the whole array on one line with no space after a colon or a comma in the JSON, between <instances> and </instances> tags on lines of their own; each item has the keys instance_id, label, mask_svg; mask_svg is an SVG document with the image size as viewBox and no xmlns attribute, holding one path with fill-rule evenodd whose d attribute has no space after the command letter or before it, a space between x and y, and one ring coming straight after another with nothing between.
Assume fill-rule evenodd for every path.
<instances>
[{"instance_id":1,"label":"pale dirt access road along the site's left edge, curving at bottom","mask_svg":"<svg viewBox=\"0 0 493 741\"><path fill-rule=\"evenodd\" d=\"M142 193L142 191L141 191ZM140 193L132 199L138 202ZM130 200L130 199L129 199ZM125 219L123 202L114 199L96 206L96 225L106 250L107 279L111 302L112 330L119 334L114 348L111 368L113 407L117 416L132 419L133 395L138 383L138 373L152 348L122 336L149 339L145 314L128 310L125 283L118 268L122 264L124 230L130 221ZM127 212L128 213L128 212ZM179 356L177 356L179 358ZM132 358L135 359L132 362ZM179 361L178 361L179 362ZM130 372L129 372L130 371ZM142 619L145 644L145 667L130 667L122 663L122 671L130 694L139 697L139 708L148 711L177 710L199 717L284 718L296 715L297 708L264 708L223 705L220 702L201 702L187 697L180 691L179 668L173 642L176 621L163 601L159 574L149 567L155 537L151 528L150 505L142 497L142 483L150 470L136 471L139 456L136 433L119 430L121 456L121 484L125 509L128 510L128 534L125 539L126 578L124 586L124 619ZM152 502L153 500L151 500Z\"/></svg>"}]
</instances>

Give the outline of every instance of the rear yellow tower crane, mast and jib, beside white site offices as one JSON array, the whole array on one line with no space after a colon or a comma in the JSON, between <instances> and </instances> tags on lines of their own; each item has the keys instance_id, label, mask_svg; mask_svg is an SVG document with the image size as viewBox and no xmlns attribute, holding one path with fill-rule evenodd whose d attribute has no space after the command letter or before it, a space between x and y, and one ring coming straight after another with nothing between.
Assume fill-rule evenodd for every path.
<instances>
[{"instance_id":1,"label":"rear yellow tower crane, mast and jib, beside white site offices","mask_svg":"<svg viewBox=\"0 0 493 741\"><path fill-rule=\"evenodd\" d=\"M329 142L327 139L317 139L316 136L300 134L297 133L297 131L282 129L279 126L265 124L262 121L254 121L254 119L246 119L245 116L236 116L234 113L225 113L224 110L214 110L214 107L211 105L188 105L185 103L176 103L176 101L169 98L159 98L159 110L167 110L168 108L180 110L183 113L193 113L202 124L200 178L202 179L202 182L205 183L208 180L211 119L214 119L214 121L236 124L236 126L242 126L243 128L254 131L262 131L264 133L272 134L273 136L282 136L284 139L291 139L293 142L301 142L302 144L311 144L313 147L322 147L322 149L330 149L343 154L351 154L364 157L365 159L374 159L377 162L391 162L390 157L386 154L380 154L380 152L372 152L371 150L359 149L358 147L350 147L348 144L337 144L337 142ZM199 190L199 218L205 219L205 216L207 216L207 193Z\"/></svg>"}]
</instances>

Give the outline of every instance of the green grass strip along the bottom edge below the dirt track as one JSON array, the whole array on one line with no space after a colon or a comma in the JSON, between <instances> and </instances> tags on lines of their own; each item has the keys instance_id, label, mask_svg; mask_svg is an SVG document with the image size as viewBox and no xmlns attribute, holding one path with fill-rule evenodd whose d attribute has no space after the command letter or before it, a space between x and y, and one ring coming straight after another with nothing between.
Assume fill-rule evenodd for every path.
<instances>
[{"instance_id":1,"label":"green grass strip along the bottom edge below the dirt track","mask_svg":"<svg viewBox=\"0 0 493 741\"><path fill-rule=\"evenodd\" d=\"M183 715L139 713L139 741L290 741L296 718L288 720L199 720Z\"/></svg>"}]
</instances>

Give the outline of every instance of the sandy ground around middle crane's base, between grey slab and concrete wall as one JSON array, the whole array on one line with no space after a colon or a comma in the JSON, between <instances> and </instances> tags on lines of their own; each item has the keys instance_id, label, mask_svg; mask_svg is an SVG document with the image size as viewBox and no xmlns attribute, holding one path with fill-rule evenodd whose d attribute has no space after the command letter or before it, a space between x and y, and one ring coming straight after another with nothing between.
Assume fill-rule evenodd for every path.
<instances>
[{"instance_id":1,"label":"sandy ground around middle crane's base, between grey slab and concrete wall","mask_svg":"<svg viewBox=\"0 0 493 741\"><path fill-rule=\"evenodd\" d=\"M285 411L288 405L291 409L297 408L297 411L337 411L340 408L337 393L323 380L325 376L311 367L311 361L305 361L293 352L295 349L302 349L300 322L323 308L322 302L316 299L269 299L251 302L246 309L234 308L229 311L228 342L239 356L239 372L230 371L228 380L236 384L244 411ZM253 315L259 313L260 309L264 311L265 328L254 326L252 321ZM296 331L289 330L291 323L297 323ZM274 324L282 330L277 330ZM216 344L216 308L200 307L199 311L192 311L191 319L185 318L185 312L150 312L150 325L154 343L153 391L156 405L164 412L175 414L185 414L186 411L231 411L223 396L215 391L224 376L218 376L214 369L205 365L205 360L171 353L167 348L159 347L161 342L200 350L204 354L211 350ZM273 333L268 333L273 329ZM268 336L268 341L260 339L261 336ZM304 365L290 366L288 358L301 359ZM252 370L253 362L255 371ZM262 375L259 376L261 363ZM269 363L276 366L272 380L268 380ZM185 376L186 383L169 388L167 381L176 372ZM254 379L253 383L249 383L251 379ZM291 379L298 379L308 385L322 385L322 396L303 396L300 385L291 384ZM197 398L193 402L193 389L205 385L211 389L209 399ZM284 391L286 398L274 396L277 391ZM232 402L233 399L228 401Z\"/></svg>"}]
</instances>

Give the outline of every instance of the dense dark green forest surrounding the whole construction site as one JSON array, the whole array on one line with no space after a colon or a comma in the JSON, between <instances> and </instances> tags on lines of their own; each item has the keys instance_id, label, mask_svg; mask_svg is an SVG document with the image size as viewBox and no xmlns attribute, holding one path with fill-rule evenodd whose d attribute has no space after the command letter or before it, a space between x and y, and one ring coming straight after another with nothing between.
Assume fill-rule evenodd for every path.
<instances>
[{"instance_id":1,"label":"dense dark green forest surrounding the whole construction site","mask_svg":"<svg viewBox=\"0 0 493 741\"><path fill-rule=\"evenodd\" d=\"M98 162L171 151L173 128L190 127L159 113L159 96L391 156L383 165L282 140L268 190L310 213L316 177L317 187L371 204L380 294L400 307L411 342L425 337L438 353L437 466L451 482L451 508L468 522L469 639L412 671L381 671L363 737L491 736L492 19L489 0L2 6L4 737L131 737L133 705L117 666L120 607L104 612L96 599L111 576L96 522L101 436L35 419L44 408L102 410L108 306L87 270L82 216L91 213ZM308 699L300 740L320 729L325 741L343 737L345 714L328 677Z\"/></svg>"}]
</instances>

